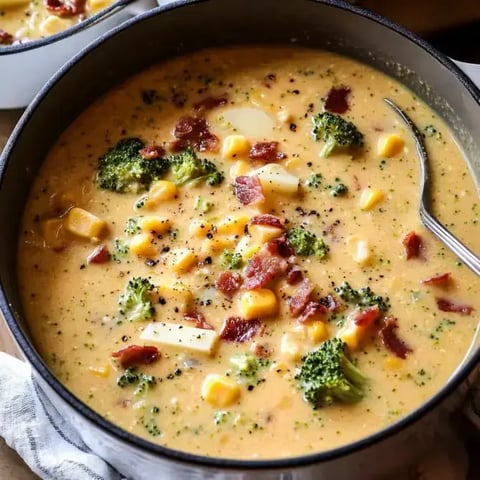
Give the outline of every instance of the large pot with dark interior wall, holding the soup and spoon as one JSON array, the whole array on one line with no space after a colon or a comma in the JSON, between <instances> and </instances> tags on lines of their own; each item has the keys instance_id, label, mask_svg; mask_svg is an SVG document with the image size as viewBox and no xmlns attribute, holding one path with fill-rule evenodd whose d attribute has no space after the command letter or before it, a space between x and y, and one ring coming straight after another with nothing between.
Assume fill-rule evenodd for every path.
<instances>
[{"instance_id":1,"label":"large pot with dark interior wall, holding the soup and spoon","mask_svg":"<svg viewBox=\"0 0 480 480\"><path fill-rule=\"evenodd\" d=\"M371 479L405 466L432 444L458 404L480 351L435 397L363 440L280 460L228 460L170 450L112 425L74 397L38 356L17 288L18 231L29 189L64 128L106 90L152 63L215 45L295 43L344 53L399 79L454 131L480 178L480 92L446 57L404 29L341 1L178 1L106 34L67 64L27 109L1 156L1 309L41 388L90 448L130 478ZM285 439L288 441L288 439Z\"/></svg>"}]
</instances>

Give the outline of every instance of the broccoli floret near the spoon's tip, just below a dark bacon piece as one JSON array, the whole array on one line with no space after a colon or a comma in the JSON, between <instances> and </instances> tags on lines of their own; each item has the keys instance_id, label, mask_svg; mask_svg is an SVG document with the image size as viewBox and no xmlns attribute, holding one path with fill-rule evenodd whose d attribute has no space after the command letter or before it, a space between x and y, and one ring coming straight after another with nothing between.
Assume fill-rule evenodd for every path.
<instances>
[{"instance_id":1,"label":"broccoli floret near the spoon's tip, just below a dark bacon piece","mask_svg":"<svg viewBox=\"0 0 480 480\"><path fill-rule=\"evenodd\" d=\"M330 112L312 117L315 140L325 142L320 155L327 158L333 151L363 145L363 134L348 120Z\"/></svg>"}]
</instances>

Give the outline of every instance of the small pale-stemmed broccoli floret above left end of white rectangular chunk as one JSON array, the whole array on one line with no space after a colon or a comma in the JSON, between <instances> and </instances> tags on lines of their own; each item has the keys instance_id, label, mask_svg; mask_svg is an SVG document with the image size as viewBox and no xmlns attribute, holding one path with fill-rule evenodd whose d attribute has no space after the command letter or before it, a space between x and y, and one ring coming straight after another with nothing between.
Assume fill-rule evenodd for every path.
<instances>
[{"instance_id":1,"label":"small pale-stemmed broccoli floret above left end of white rectangular chunk","mask_svg":"<svg viewBox=\"0 0 480 480\"><path fill-rule=\"evenodd\" d=\"M148 298L154 286L146 278L135 277L128 282L125 292L118 298L119 312L130 322L149 320L155 307Z\"/></svg>"}]
</instances>

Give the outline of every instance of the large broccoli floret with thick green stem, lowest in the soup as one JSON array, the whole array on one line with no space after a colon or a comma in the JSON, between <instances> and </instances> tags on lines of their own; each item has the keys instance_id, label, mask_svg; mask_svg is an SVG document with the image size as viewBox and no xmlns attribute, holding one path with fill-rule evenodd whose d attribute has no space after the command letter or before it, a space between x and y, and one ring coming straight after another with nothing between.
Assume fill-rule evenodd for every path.
<instances>
[{"instance_id":1,"label":"large broccoli floret with thick green stem, lowest in the soup","mask_svg":"<svg viewBox=\"0 0 480 480\"><path fill-rule=\"evenodd\" d=\"M338 338L309 352L295 376L305 400L314 408L333 403L355 403L365 396L367 377L348 359L346 344Z\"/></svg>"}]
</instances>

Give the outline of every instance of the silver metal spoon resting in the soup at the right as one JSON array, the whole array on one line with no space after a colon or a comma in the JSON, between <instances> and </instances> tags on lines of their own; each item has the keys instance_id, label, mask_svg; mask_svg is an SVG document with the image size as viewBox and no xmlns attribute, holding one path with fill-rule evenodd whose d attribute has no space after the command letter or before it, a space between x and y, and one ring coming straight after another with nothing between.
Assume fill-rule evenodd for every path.
<instances>
[{"instance_id":1,"label":"silver metal spoon resting in the soup at the right","mask_svg":"<svg viewBox=\"0 0 480 480\"><path fill-rule=\"evenodd\" d=\"M417 126L413 123L411 118L392 100L389 98L383 99L395 113L407 124L408 128L415 137L417 146L417 153L420 157L420 220L434 235L436 235L457 257L473 270L477 275L480 275L480 258L468 249L460 240L452 235L431 213L430 213L430 178L428 175L428 154L423 143L422 134Z\"/></svg>"}]
</instances>

